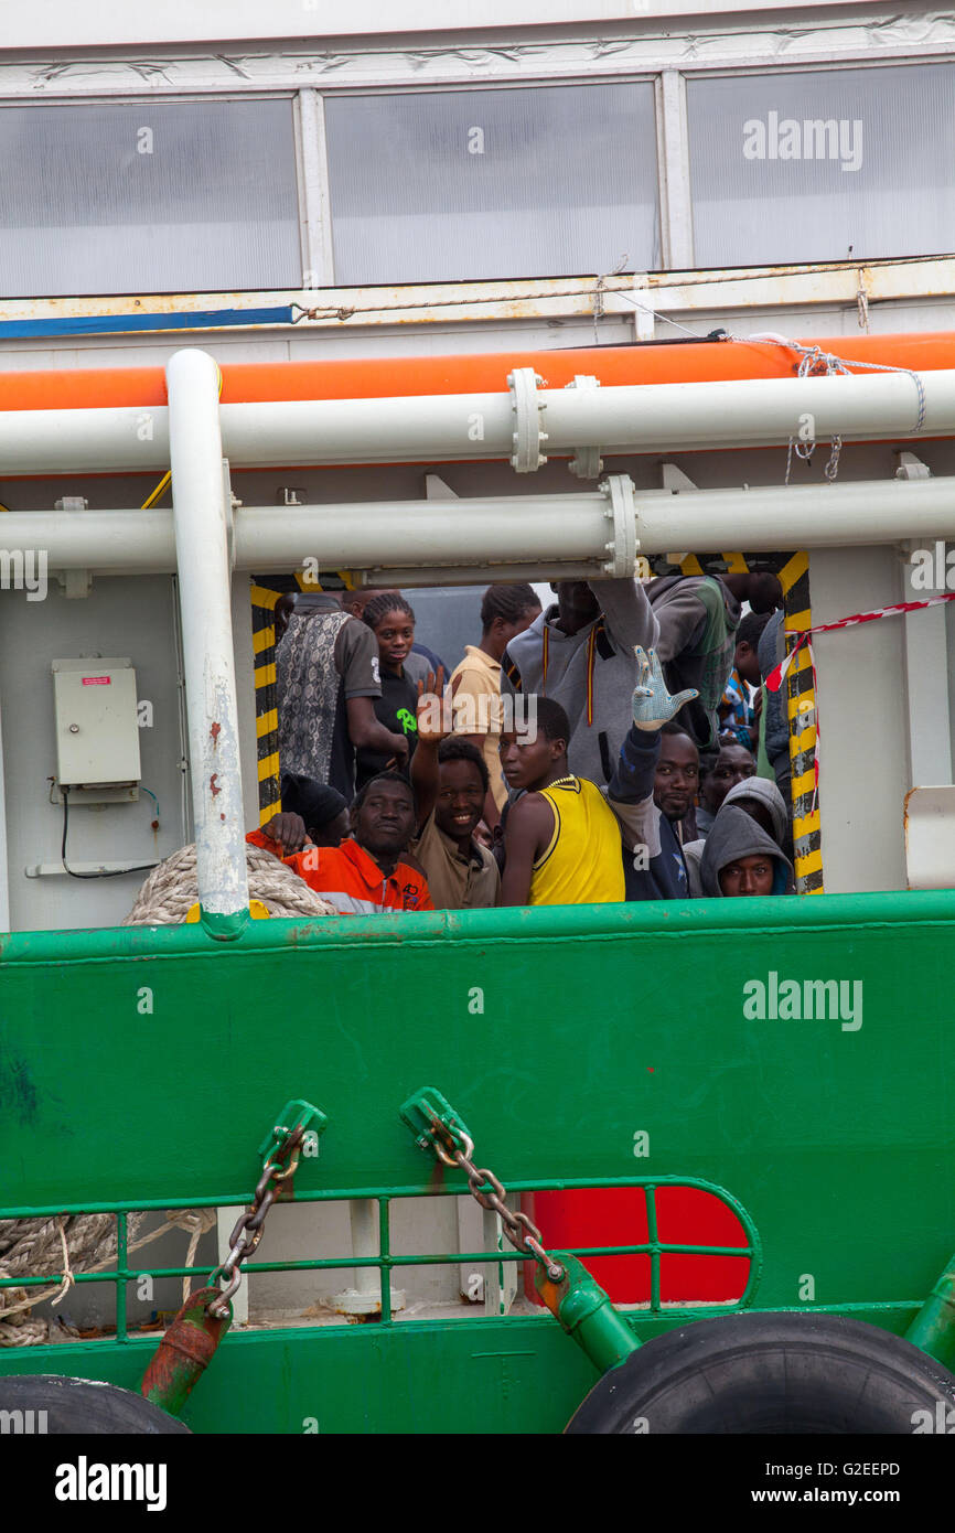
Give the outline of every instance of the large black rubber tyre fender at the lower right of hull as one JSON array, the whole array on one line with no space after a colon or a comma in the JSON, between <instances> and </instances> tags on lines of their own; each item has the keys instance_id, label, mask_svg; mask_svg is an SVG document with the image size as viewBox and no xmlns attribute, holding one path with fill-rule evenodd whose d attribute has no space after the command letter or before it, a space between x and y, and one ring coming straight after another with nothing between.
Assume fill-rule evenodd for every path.
<instances>
[{"instance_id":1,"label":"large black rubber tyre fender at the lower right of hull","mask_svg":"<svg viewBox=\"0 0 955 1533\"><path fill-rule=\"evenodd\" d=\"M604 1374L566 1430L911 1435L926 1420L915 1412L935 1423L953 1409L955 1377L878 1326L840 1315L725 1315L647 1341Z\"/></svg>"}]
</instances>

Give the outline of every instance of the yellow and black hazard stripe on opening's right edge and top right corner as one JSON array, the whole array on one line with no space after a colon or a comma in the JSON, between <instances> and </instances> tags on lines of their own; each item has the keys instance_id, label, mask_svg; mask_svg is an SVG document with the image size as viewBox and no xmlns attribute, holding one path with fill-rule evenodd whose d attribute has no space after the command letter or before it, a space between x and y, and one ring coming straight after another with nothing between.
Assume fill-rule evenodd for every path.
<instances>
[{"instance_id":1,"label":"yellow and black hazard stripe on opening's right edge and top right corner","mask_svg":"<svg viewBox=\"0 0 955 1533\"><path fill-rule=\"evenodd\" d=\"M653 561L658 573L667 573ZM682 575L747 575L766 570L779 576L785 598L786 652L797 635L812 627L808 553L687 553ZM786 671L789 760L793 765L793 845L799 894L823 894L822 828L816 800L816 679L812 656L803 644Z\"/></svg>"}]
</instances>

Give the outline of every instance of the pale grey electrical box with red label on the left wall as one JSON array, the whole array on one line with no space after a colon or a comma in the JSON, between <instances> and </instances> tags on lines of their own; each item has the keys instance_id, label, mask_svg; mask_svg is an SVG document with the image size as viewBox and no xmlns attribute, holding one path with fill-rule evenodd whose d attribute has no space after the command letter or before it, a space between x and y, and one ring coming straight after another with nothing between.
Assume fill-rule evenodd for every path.
<instances>
[{"instance_id":1,"label":"pale grey electrical box with red label on the left wall","mask_svg":"<svg viewBox=\"0 0 955 1533\"><path fill-rule=\"evenodd\" d=\"M141 771L132 662L54 661L52 670L60 788L110 789L110 796L133 788Z\"/></svg>"}]
</instances>

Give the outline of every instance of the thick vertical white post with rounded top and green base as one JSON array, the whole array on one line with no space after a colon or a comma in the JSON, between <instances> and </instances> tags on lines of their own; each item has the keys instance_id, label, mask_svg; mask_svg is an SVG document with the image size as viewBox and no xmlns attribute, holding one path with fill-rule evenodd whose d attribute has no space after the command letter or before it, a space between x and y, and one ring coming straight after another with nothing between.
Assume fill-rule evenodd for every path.
<instances>
[{"instance_id":1,"label":"thick vertical white post with rounded top and green base","mask_svg":"<svg viewBox=\"0 0 955 1533\"><path fill-rule=\"evenodd\" d=\"M219 369L205 351L176 351L166 385L199 904L205 929L230 938L248 920L248 877Z\"/></svg>"}]
</instances>

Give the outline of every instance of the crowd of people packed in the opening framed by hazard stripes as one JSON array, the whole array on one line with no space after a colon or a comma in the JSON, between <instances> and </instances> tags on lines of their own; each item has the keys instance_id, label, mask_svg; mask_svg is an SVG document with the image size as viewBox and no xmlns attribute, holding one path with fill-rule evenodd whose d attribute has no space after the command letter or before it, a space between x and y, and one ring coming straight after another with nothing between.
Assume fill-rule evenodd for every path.
<instances>
[{"instance_id":1,"label":"crowd of people packed in the opening framed by hazard stripes","mask_svg":"<svg viewBox=\"0 0 955 1533\"><path fill-rule=\"evenodd\" d=\"M793 894L776 576L553 592L491 586L451 670L399 590L284 598L248 840L348 915Z\"/></svg>"}]
</instances>

